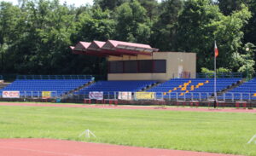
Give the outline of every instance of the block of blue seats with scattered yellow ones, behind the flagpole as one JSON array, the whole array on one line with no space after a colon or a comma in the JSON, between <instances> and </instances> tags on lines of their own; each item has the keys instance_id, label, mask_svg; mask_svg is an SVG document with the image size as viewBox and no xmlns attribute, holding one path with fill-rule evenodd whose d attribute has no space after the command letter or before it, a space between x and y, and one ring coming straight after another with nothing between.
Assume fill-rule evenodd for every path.
<instances>
[{"instance_id":1,"label":"block of blue seats with scattered yellow ones, behind the flagpole","mask_svg":"<svg viewBox=\"0 0 256 156\"><path fill-rule=\"evenodd\" d=\"M241 78L217 78L216 90L221 91L227 89L232 84L236 84ZM201 85L200 85L201 84ZM198 86L197 86L198 85ZM186 87L184 87L186 86ZM194 87L194 90L192 88ZM175 89L176 88L176 89ZM183 88L183 90L182 90ZM187 91L187 93L186 93ZM214 93L213 78L173 78L163 84L159 84L148 92L157 92L157 98L192 98L207 99L208 96ZM162 95L162 93L165 93Z\"/></svg>"}]
</instances>

